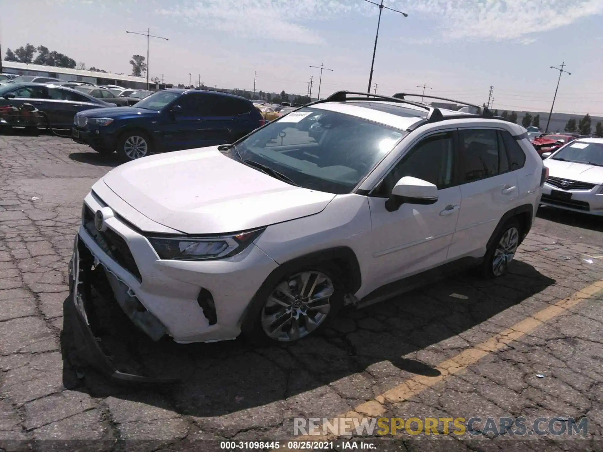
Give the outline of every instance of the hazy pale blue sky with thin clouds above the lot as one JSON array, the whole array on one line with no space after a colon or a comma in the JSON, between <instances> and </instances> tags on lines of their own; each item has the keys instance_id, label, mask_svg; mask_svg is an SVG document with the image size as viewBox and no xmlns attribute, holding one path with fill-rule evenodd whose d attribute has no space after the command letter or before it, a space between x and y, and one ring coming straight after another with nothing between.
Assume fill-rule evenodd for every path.
<instances>
[{"instance_id":1,"label":"hazy pale blue sky with thin clouds above the lot","mask_svg":"<svg viewBox=\"0 0 603 452\"><path fill-rule=\"evenodd\" d=\"M376 0L379 2L380 0ZM603 0L384 0L371 92L493 108L603 116ZM87 67L312 97L367 91L379 7L365 0L0 0L0 42L31 43ZM418 87L421 86L421 87Z\"/></svg>"}]
</instances>

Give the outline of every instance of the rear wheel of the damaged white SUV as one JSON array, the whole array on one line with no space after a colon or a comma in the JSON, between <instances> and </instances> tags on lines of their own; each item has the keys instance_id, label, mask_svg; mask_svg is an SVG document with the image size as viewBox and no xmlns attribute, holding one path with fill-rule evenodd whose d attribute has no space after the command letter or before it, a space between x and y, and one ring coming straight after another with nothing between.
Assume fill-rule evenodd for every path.
<instances>
[{"instance_id":1,"label":"rear wheel of the damaged white SUV","mask_svg":"<svg viewBox=\"0 0 603 452\"><path fill-rule=\"evenodd\" d=\"M507 273L521 236L522 227L517 219L505 223L484 256L481 272L485 278L498 278Z\"/></svg>"}]
</instances>

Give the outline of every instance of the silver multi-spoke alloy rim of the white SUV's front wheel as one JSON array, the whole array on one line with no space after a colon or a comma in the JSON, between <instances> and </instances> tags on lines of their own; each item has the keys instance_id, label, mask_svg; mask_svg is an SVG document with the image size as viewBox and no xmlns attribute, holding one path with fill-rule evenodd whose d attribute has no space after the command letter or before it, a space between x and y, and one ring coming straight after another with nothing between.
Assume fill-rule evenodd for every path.
<instances>
[{"instance_id":1,"label":"silver multi-spoke alloy rim of the white SUV's front wheel","mask_svg":"<svg viewBox=\"0 0 603 452\"><path fill-rule=\"evenodd\" d=\"M262 309L264 332L281 342L308 336L327 318L333 292L333 281L318 271L301 272L281 281Z\"/></svg>"}]
</instances>

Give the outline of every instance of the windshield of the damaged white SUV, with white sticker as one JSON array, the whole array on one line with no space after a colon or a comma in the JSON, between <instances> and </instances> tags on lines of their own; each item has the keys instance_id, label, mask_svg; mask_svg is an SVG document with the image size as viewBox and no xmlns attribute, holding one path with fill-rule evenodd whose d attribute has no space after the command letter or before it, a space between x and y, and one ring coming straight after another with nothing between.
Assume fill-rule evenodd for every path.
<instances>
[{"instance_id":1,"label":"windshield of the damaged white SUV, with white sticker","mask_svg":"<svg viewBox=\"0 0 603 452\"><path fill-rule=\"evenodd\" d=\"M236 151L301 187L344 194L406 134L356 116L301 108L237 143Z\"/></svg>"}]
</instances>

